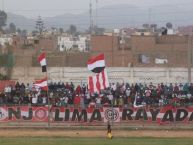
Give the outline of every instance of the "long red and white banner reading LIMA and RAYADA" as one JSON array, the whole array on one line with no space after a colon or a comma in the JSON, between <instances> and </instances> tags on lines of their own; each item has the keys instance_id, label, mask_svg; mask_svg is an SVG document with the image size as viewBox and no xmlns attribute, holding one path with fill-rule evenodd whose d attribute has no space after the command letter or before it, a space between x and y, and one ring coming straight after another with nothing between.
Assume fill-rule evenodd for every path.
<instances>
[{"instance_id":1,"label":"long red and white banner reading LIMA and RAYADA","mask_svg":"<svg viewBox=\"0 0 193 145\"><path fill-rule=\"evenodd\" d=\"M0 124L10 122L43 122L45 124L62 123L64 125L107 124L193 124L193 107L143 107L143 108L65 108L65 107L30 107L1 106Z\"/></svg>"}]
</instances>

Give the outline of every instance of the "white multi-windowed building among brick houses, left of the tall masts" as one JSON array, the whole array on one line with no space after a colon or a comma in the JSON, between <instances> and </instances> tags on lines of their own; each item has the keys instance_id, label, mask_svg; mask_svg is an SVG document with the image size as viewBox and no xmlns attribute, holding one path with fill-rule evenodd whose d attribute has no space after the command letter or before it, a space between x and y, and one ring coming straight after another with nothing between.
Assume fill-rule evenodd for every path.
<instances>
[{"instance_id":1,"label":"white multi-windowed building among brick houses, left of the tall masts","mask_svg":"<svg viewBox=\"0 0 193 145\"><path fill-rule=\"evenodd\" d=\"M60 51L69 51L77 49L79 51L87 50L87 37L85 36L59 36L58 37L58 48Z\"/></svg>"}]
</instances>

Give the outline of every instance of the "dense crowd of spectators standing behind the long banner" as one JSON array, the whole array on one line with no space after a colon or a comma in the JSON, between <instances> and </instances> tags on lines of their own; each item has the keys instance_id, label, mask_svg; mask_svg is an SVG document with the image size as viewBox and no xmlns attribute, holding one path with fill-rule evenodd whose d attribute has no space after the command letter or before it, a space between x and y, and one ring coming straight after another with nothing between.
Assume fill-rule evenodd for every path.
<instances>
[{"instance_id":1,"label":"dense crowd of spectators standing behind the long banner","mask_svg":"<svg viewBox=\"0 0 193 145\"><path fill-rule=\"evenodd\" d=\"M49 100L48 100L49 96ZM32 84L16 83L0 92L0 105L34 105L64 107L127 107L136 105L185 106L193 104L193 84L129 84L111 83L100 93L90 93L86 84L49 83L49 91L42 91Z\"/></svg>"}]
</instances>

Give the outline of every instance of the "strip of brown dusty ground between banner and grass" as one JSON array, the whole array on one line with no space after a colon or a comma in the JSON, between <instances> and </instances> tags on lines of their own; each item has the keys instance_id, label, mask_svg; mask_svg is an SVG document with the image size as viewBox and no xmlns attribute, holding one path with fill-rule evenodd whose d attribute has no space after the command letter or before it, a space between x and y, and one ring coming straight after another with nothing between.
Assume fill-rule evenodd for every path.
<instances>
[{"instance_id":1,"label":"strip of brown dusty ground between banner and grass","mask_svg":"<svg viewBox=\"0 0 193 145\"><path fill-rule=\"evenodd\" d=\"M114 137L190 137L192 130L113 130ZM35 129L0 129L0 137L106 137L104 130L35 130Z\"/></svg>"}]
</instances>

